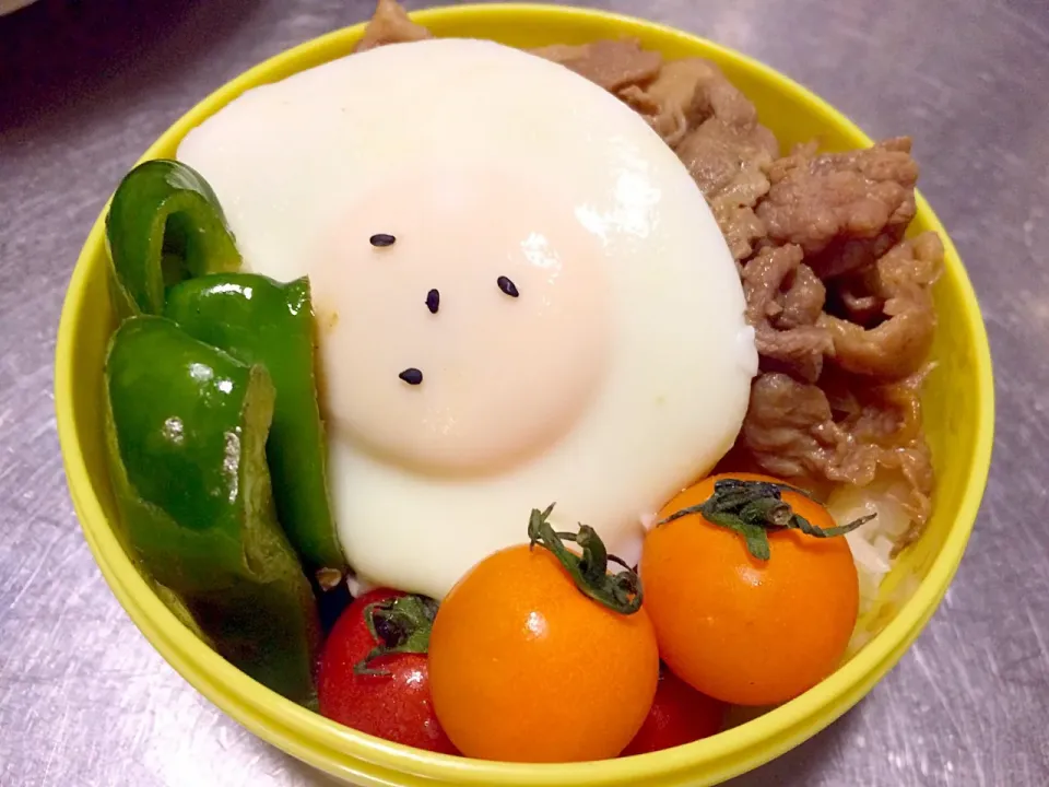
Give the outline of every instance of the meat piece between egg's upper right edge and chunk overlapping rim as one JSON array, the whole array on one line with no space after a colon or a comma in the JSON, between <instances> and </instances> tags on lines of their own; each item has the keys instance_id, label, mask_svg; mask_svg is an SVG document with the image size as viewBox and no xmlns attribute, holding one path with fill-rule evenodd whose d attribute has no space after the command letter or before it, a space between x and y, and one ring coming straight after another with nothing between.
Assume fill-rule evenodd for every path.
<instances>
[{"instance_id":1,"label":"meat piece between egg's upper right edge and chunk overlapping rim","mask_svg":"<svg viewBox=\"0 0 1049 787\"><path fill-rule=\"evenodd\" d=\"M734 126L718 117L705 120L677 145L736 260L750 257L765 236L754 205L768 192L765 168L778 152L776 138L764 126Z\"/></svg>"}]
</instances>

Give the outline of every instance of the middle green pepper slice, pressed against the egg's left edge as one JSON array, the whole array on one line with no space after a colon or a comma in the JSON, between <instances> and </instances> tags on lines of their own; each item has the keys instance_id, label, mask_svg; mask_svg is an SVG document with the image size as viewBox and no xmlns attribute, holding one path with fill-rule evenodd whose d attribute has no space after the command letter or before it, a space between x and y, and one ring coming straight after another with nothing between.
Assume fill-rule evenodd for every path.
<instances>
[{"instance_id":1,"label":"middle green pepper slice, pressed against the egg's left edge","mask_svg":"<svg viewBox=\"0 0 1049 787\"><path fill-rule=\"evenodd\" d=\"M195 339L270 373L276 403L266 453L278 519L320 587L333 587L346 563L328 502L309 281L281 284L252 273L190 279L168 291L164 315Z\"/></svg>"}]
</instances>

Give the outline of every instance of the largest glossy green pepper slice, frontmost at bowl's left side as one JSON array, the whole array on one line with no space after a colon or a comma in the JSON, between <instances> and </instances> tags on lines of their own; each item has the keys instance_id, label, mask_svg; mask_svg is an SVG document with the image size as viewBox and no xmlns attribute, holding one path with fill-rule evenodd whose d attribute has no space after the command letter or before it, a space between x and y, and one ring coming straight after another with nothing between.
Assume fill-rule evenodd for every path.
<instances>
[{"instance_id":1,"label":"largest glossy green pepper slice, frontmost at bowl's left side","mask_svg":"<svg viewBox=\"0 0 1049 787\"><path fill-rule=\"evenodd\" d=\"M106 441L125 540L225 658L314 697L317 607L276 522L266 438L274 389L170 320L133 317L106 359Z\"/></svg>"}]
</instances>

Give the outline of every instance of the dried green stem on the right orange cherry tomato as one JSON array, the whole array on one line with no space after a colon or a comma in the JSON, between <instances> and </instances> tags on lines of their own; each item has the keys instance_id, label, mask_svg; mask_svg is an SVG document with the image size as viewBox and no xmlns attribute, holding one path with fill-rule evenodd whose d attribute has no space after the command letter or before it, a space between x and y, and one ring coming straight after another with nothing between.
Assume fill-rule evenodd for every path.
<instances>
[{"instance_id":1,"label":"dried green stem on the right orange cherry tomato","mask_svg":"<svg viewBox=\"0 0 1049 787\"><path fill-rule=\"evenodd\" d=\"M845 536L865 525L876 514L853 519L848 525L821 528L803 516L795 514L783 500L783 492L794 492L810 497L804 490L788 484L768 481L741 481L722 479L714 484L714 494L699 505L688 506L656 522L657 527L691 514L699 514L714 525L734 530L746 541L746 549L758 560L769 559L769 530L801 530L814 538Z\"/></svg>"}]
</instances>

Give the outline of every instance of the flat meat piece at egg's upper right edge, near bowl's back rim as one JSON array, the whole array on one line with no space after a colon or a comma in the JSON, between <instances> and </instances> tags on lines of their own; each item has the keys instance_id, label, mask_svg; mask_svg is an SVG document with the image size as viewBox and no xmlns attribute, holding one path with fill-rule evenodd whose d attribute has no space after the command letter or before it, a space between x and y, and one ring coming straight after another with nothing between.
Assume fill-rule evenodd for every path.
<instances>
[{"instance_id":1,"label":"flat meat piece at egg's upper right edge, near bowl's back rim","mask_svg":"<svg viewBox=\"0 0 1049 787\"><path fill-rule=\"evenodd\" d=\"M613 93L655 79L663 63L659 52L641 49L636 38L598 40L579 46L554 44L529 51L561 63Z\"/></svg>"}]
</instances>

